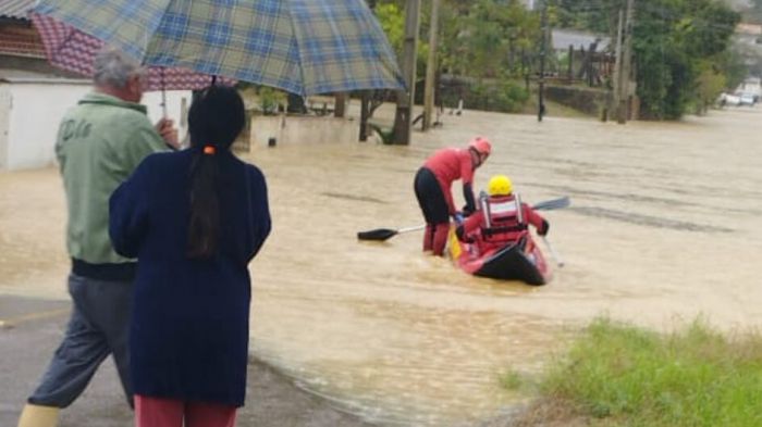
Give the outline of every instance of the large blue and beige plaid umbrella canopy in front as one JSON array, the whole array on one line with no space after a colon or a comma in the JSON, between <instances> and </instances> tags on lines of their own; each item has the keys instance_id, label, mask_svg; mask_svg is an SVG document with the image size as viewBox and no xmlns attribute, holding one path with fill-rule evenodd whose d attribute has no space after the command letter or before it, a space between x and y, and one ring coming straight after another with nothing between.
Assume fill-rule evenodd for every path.
<instances>
[{"instance_id":1,"label":"large blue and beige plaid umbrella canopy in front","mask_svg":"<svg viewBox=\"0 0 762 427\"><path fill-rule=\"evenodd\" d=\"M34 11L144 64L300 95L404 86L364 0L40 0Z\"/></svg>"}]
</instances>

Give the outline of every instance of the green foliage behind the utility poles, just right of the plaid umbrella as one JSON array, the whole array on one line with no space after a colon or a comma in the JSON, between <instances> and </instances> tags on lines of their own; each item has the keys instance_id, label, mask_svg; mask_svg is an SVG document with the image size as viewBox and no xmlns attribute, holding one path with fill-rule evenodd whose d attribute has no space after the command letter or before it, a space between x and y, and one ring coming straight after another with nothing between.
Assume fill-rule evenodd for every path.
<instances>
[{"instance_id":1,"label":"green foliage behind the utility poles, just right of the plaid umbrella","mask_svg":"<svg viewBox=\"0 0 762 427\"><path fill-rule=\"evenodd\" d=\"M529 73L523 56L533 56L540 37L537 12L519 0L441 0L438 66L443 74L467 81L490 80L490 100L501 111L519 110L526 91L516 90L516 79ZM402 58L405 26L404 0L378 0L374 12L390 42ZM418 79L426 72L431 21L430 0L421 1L418 43ZM482 87L483 84L480 86ZM470 90L475 89L471 87ZM464 93L458 93L463 97ZM467 102L469 97L465 97Z\"/></svg>"}]
</instances>

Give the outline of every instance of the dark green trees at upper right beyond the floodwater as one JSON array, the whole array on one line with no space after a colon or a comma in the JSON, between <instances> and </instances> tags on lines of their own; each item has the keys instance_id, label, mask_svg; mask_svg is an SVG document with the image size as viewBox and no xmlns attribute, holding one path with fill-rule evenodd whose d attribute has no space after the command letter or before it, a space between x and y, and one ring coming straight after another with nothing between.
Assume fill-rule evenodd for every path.
<instances>
[{"instance_id":1,"label":"dark green trees at upper right beyond the floodwater","mask_svg":"<svg viewBox=\"0 0 762 427\"><path fill-rule=\"evenodd\" d=\"M626 1L553 0L553 4L561 25L615 36ZM716 83L728 81L720 75L740 15L718 0L638 0L635 4L632 52L642 115L679 118L697 101L716 97L722 90Z\"/></svg>"}]
</instances>

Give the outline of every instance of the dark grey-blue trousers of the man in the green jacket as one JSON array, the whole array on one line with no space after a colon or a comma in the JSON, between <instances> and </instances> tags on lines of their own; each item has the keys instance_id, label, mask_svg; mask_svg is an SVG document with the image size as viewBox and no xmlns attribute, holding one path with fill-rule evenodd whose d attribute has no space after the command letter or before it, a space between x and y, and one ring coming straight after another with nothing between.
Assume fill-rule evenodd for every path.
<instances>
[{"instance_id":1,"label":"dark grey-blue trousers of the man in the green jacket","mask_svg":"<svg viewBox=\"0 0 762 427\"><path fill-rule=\"evenodd\" d=\"M133 405L127 355L132 290L132 281L69 276L72 316L29 403L69 406L85 391L98 366L113 354L127 402Z\"/></svg>"}]
</instances>

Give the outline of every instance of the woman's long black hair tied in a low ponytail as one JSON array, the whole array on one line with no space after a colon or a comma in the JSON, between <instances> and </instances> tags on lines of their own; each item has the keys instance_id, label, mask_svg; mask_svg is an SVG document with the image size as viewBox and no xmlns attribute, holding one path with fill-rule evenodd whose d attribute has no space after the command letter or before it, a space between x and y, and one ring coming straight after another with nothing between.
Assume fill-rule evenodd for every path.
<instances>
[{"instance_id":1,"label":"woman's long black hair tied in a low ponytail","mask_svg":"<svg viewBox=\"0 0 762 427\"><path fill-rule=\"evenodd\" d=\"M218 175L220 155L244 128L244 101L232 87L212 86L200 92L188 113L193 161L190 163L190 219L187 255L210 258L220 236Z\"/></svg>"}]
</instances>

